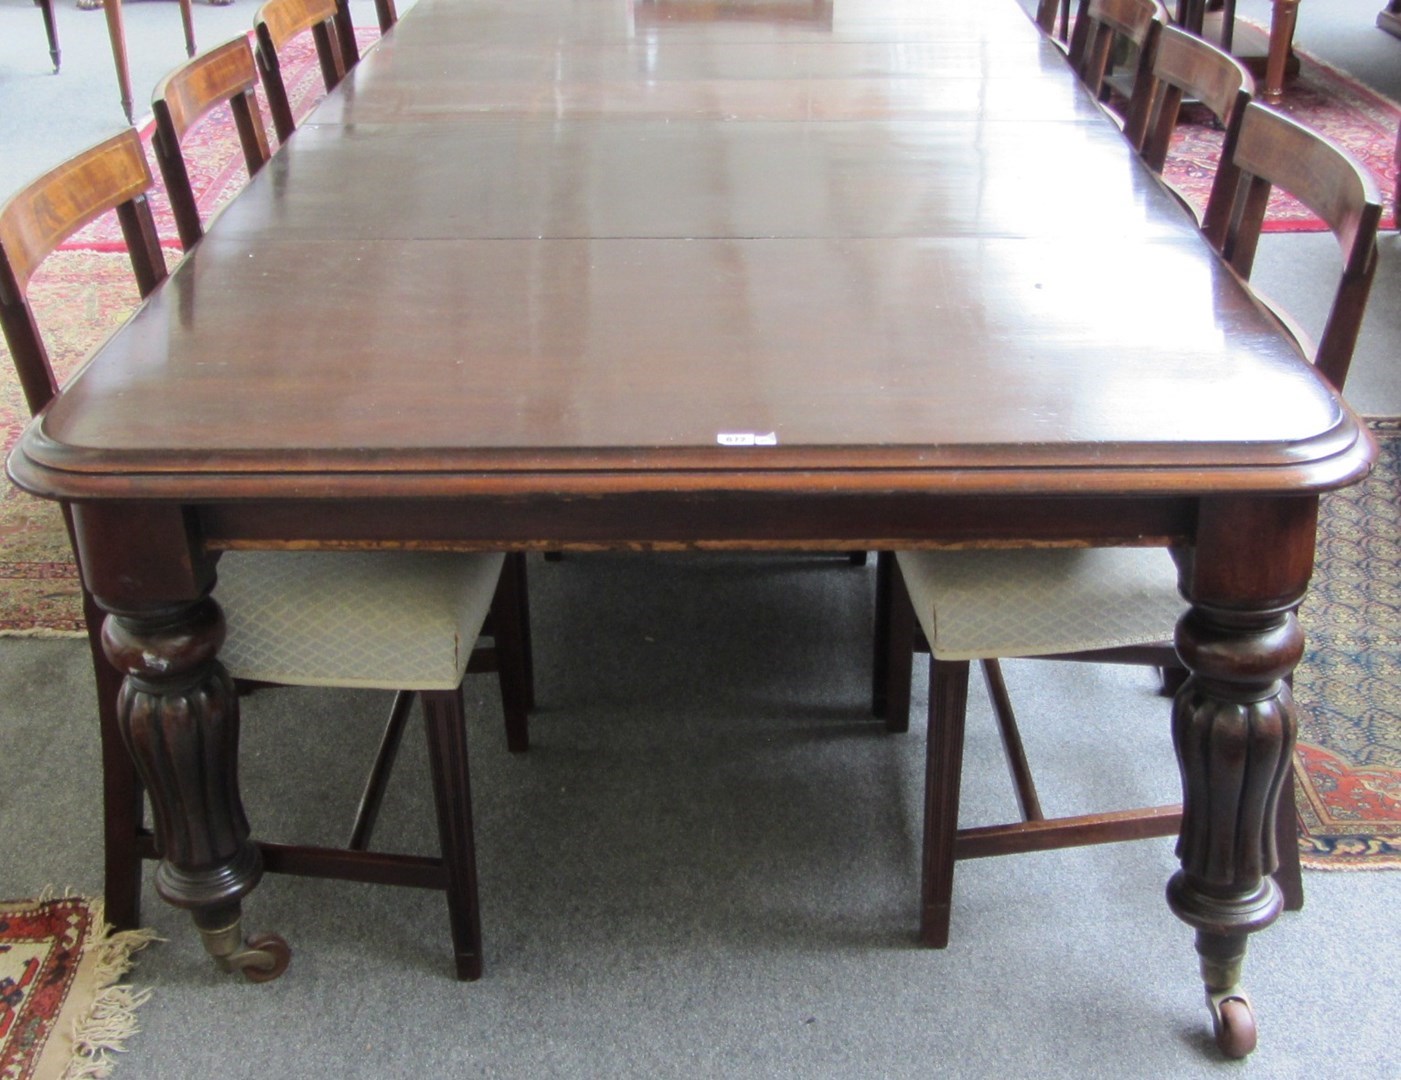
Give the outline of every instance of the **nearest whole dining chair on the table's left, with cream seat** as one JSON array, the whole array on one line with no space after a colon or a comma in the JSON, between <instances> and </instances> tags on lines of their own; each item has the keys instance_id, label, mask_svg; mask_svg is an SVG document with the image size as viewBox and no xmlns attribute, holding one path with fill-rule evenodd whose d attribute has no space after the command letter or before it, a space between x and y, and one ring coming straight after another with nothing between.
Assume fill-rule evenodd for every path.
<instances>
[{"instance_id":1,"label":"nearest whole dining chair on the table's left, with cream seat","mask_svg":"<svg viewBox=\"0 0 1401 1080\"><path fill-rule=\"evenodd\" d=\"M165 277L147 203L151 172L127 129L63 162L0 207L0 329L31 413L62 395L29 303L43 261L77 230L116 213L137 289ZM74 544L71 508L63 506ZM310 877L437 888L447 894L458 978L481 974L471 784L461 682L467 671L500 677L507 745L528 747L531 706L528 615L520 556L444 552L224 552L213 597L226 616L220 658L242 689L261 685L382 688L398 693L374 755L345 847L259 843L265 868ZM105 614L84 586L84 618L98 684L104 762L104 849L108 919L134 925L140 860L157 857L143 822L143 793L116 716L120 677L102 647ZM488 616L490 649L474 649ZM437 807L436 857L370 850L368 842L412 700L427 727ZM340 745L340 730L326 733ZM286 967L280 939L212 951L226 967L266 981Z\"/></svg>"}]
</instances>

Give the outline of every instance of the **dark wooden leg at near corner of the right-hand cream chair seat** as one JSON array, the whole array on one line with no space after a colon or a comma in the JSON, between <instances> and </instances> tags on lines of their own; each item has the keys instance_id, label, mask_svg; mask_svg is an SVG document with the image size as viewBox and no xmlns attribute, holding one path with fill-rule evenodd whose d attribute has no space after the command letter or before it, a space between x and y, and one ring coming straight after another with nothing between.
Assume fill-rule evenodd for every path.
<instances>
[{"instance_id":1,"label":"dark wooden leg at near corner of the right-hand cream chair seat","mask_svg":"<svg viewBox=\"0 0 1401 1080\"><path fill-rule=\"evenodd\" d=\"M944 948L948 944L948 912L954 892L954 842L958 835L958 789L962 780L964 720L968 713L968 661L932 660L929 684L919 943L929 948Z\"/></svg>"}]
</instances>

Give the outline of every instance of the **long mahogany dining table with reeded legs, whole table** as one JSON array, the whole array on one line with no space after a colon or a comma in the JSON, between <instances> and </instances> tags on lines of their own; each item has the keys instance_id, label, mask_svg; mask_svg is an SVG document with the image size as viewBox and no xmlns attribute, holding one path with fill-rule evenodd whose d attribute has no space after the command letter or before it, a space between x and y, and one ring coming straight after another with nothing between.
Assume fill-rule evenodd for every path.
<instances>
[{"instance_id":1,"label":"long mahogany dining table with reeded legs, whole table","mask_svg":"<svg viewBox=\"0 0 1401 1080\"><path fill-rule=\"evenodd\" d=\"M1318 500L1374 454L1014 0L419 0L8 472L73 508L205 929L262 873L223 551L1170 548L1220 1028Z\"/></svg>"}]
</instances>

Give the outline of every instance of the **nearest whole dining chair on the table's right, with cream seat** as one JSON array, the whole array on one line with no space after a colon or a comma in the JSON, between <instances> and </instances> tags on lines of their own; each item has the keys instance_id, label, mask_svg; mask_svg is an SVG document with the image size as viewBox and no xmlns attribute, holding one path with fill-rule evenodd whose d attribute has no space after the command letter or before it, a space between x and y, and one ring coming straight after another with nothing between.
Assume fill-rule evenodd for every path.
<instances>
[{"instance_id":1,"label":"nearest whole dining chair on the table's right, with cream seat","mask_svg":"<svg viewBox=\"0 0 1401 1080\"><path fill-rule=\"evenodd\" d=\"M1226 147L1212 198L1213 238L1230 268L1248 279L1271 186L1304 202L1338 238L1342 275L1317 346L1290 333L1300 354L1342 391L1376 270L1381 214L1376 182L1348 154L1307 127L1250 102ZM1252 294L1254 296L1254 294ZM1264 301L1261 301L1264 307ZM1269 310L1269 308L1265 308ZM1278 315L1276 315L1278 318ZM1175 833L1181 807L1146 807L1047 818L1031 779L999 657L1147 664L1175 678L1185 670L1173 647L1187 609L1173 556L1156 548L898 552L883 556L891 597L884 612L890 654L884 677L887 726L909 716L912 654L932 653L920 940L948 943L954 863ZM920 640L922 639L922 640ZM968 670L979 661L1013 773L1021 821L958 828ZM1175 682L1174 678L1174 682ZM1281 769L1274 847L1285 906L1303 905L1292 762Z\"/></svg>"}]
</instances>

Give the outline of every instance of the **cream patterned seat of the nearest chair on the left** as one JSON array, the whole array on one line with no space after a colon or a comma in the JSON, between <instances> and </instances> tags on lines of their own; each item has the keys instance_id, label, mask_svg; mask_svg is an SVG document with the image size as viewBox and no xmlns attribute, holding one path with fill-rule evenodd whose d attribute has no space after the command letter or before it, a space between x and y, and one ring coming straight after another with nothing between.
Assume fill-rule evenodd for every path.
<instances>
[{"instance_id":1,"label":"cream patterned seat of the nearest chair on the left","mask_svg":"<svg viewBox=\"0 0 1401 1080\"><path fill-rule=\"evenodd\" d=\"M214 600L234 678L451 691L481 635L502 555L227 552Z\"/></svg>"}]
</instances>

